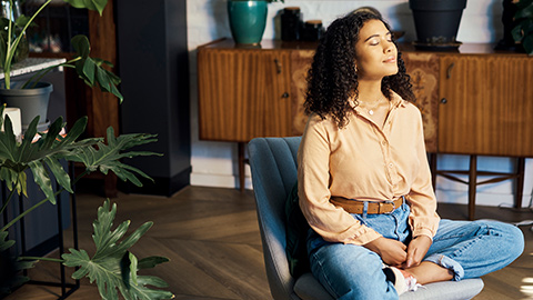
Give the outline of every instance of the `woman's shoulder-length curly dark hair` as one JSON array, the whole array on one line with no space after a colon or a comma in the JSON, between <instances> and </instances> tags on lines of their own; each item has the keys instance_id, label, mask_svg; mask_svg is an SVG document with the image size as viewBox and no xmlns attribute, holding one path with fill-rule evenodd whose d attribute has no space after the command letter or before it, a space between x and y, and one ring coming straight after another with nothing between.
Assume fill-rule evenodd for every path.
<instances>
[{"instance_id":1,"label":"woman's shoulder-length curly dark hair","mask_svg":"<svg viewBox=\"0 0 533 300\"><path fill-rule=\"evenodd\" d=\"M322 119L328 114L335 120L339 128L348 124L348 112L351 97L358 98L358 74L355 72L355 43L359 31L369 20L382 21L378 14L368 11L355 11L333 21L321 38L313 63L308 73L308 91L305 94L305 113L315 112ZM395 41L393 40L394 44ZM414 101L410 77L405 64L398 53L398 73L383 78L381 90L391 98L391 90L408 101Z\"/></svg>"}]
</instances>

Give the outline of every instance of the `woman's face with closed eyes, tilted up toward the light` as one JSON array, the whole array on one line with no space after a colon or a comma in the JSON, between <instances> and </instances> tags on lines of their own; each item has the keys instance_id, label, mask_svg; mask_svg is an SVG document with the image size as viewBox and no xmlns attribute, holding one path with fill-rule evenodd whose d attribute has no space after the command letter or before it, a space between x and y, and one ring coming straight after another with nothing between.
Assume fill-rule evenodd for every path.
<instances>
[{"instance_id":1,"label":"woman's face with closed eyes, tilted up toward the light","mask_svg":"<svg viewBox=\"0 0 533 300\"><path fill-rule=\"evenodd\" d=\"M381 80L398 73L398 49L392 34L380 20L366 21L355 43L359 80Z\"/></svg>"}]
</instances>

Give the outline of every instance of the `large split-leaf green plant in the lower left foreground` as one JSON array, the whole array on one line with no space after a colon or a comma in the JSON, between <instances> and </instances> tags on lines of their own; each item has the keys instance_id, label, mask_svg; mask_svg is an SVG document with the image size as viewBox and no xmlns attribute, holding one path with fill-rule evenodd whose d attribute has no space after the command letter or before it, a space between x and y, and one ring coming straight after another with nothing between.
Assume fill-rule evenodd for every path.
<instances>
[{"instance_id":1,"label":"large split-leaf green plant in the lower left foreground","mask_svg":"<svg viewBox=\"0 0 533 300\"><path fill-rule=\"evenodd\" d=\"M120 162L122 158L131 158L138 156L152 156L152 152L129 151L130 148L155 141L153 134L124 134L114 137L112 127L108 129L107 144L102 138L91 138L77 141L78 137L84 131L87 118L78 120L70 132L61 136L60 132L64 127L62 118L58 118L47 133L38 133L38 117L30 123L27 134L21 142L16 140L12 132L12 123L9 117L2 119L3 106L0 108L0 122L4 124L4 131L0 132L0 180L7 183L11 191L0 213L2 213L12 201L13 194L26 193L27 190L27 171L31 171L36 183L40 187L44 194L44 199L26 211L14 216L6 226L0 228L0 254L6 258L6 253L14 244L13 240L8 239L8 229L20 221L27 213L39 209L43 203L52 202L56 204L56 197L67 190L73 192L73 184L84 174L93 171L107 173L114 172L120 179L131 181L137 186L142 186L137 178L141 176L149 178L142 171L123 164ZM33 137L40 134L40 139L34 142ZM60 163L61 160L81 162L86 166L86 171L80 177L70 178L68 172ZM54 182L61 187L59 191L54 191L52 186ZM67 267L79 268L72 278L81 279L88 277L91 282L95 282L102 299L118 299L118 292L124 299L171 299L173 294L170 291L155 288L164 288L167 283L157 278L149 276L138 276L138 270L152 268L161 262L168 261L162 257L149 257L137 259L129 251L131 248L152 226L151 222L142 224L133 231L129 237L124 234L129 227L129 221L119 224L114 230L112 222L117 212L117 206L111 206L109 200L98 209L98 218L93 222L94 233L93 240L95 244L95 253L91 258L86 250L70 249L61 259L52 258L34 258L19 257L14 270L28 269L33 266L37 260L57 261ZM7 220L4 220L7 222ZM2 291L6 290L7 283L20 283L24 278L13 274L6 274L9 268L0 261L1 278L13 279L11 282L0 281L0 298ZM3 290L2 290L3 288Z\"/></svg>"}]
</instances>

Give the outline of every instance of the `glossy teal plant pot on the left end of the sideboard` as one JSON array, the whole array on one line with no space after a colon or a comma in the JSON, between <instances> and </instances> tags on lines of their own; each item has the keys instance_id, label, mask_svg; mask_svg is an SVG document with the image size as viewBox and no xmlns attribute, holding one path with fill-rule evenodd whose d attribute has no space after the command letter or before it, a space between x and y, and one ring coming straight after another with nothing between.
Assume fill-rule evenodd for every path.
<instances>
[{"instance_id":1,"label":"glossy teal plant pot on the left end of the sideboard","mask_svg":"<svg viewBox=\"0 0 533 300\"><path fill-rule=\"evenodd\" d=\"M237 43L259 44L266 24L266 1L228 0L228 16Z\"/></svg>"}]
</instances>

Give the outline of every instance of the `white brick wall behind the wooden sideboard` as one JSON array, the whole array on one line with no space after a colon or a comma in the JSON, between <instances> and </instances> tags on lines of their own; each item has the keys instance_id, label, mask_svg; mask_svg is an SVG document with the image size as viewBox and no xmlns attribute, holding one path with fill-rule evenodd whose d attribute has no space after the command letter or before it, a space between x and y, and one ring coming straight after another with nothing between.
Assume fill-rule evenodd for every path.
<instances>
[{"instance_id":1,"label":"white brick wall behind the wooden sideboard","mask_svg":"<svg viewBox=\"0 0 533 300\"><path fill-rule=\"evenodd\" d=\"M191 184L209 187L238 186L237 143L200 141L198 139L198 87L197 52L198 46L212 40L231 37L225 0L188 0L188 34L191 58L191 122L192 122L192 174ZM404 41L415 40L414 23L408 0L285 0L285 3L269 4L269 18L263 39L278 38L274 16L288 6L301 8L304 20L320 19L324 26L336 17L343 16L359 7L371 6L381 11L394 30L405 31ZM462 42L495 42L503 37L501 23L501 0L470 0L463 11L457 33ZM514 160L510 158L479 158L480 170L512 171ZM467 169L469 158L463 156L440 156L439 168ZM531 198L531 173L533 164L526 161L526 178L523 203ZM481 180L481 179L480 179ZM250 170L247 166L247 188L251 188ZM442 202L466 203L467 186L438 178L438 198ZM511 206L513 203L513 182L511 180L479 186L479 204Z\"/></svg>"}]
</instances>

